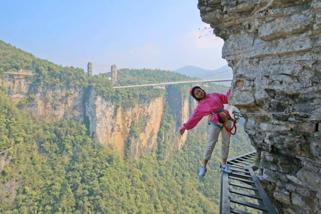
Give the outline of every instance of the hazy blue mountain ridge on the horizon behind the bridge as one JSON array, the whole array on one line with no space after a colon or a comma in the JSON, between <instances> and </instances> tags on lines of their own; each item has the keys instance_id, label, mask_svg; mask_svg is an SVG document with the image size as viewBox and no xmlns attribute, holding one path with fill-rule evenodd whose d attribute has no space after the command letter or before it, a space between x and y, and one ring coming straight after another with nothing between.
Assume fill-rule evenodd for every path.
<instances>
[{"instance_id":1,"label":"hazy blue mountain ridge on the horizon behind the bridge","mask_svg":"<svg viewBox=\"0 0 321 214\"><path fill-rule=\"evenodd\" d=\"M224 71L226 71L226 72L224 72ZM197 66L187 65L187 66L176 69L174 72L185 74L190 77L202 77L202 76L207 76L207 75L217 73L217 76L214 75L213 78L215 78L215 79L216 79L216 77L217 77L217 79L222 79L222 78L231 78L232 79L233 78L232 68L230 68L228 65L224 65L223 67L215 69L215 70L207 70L207 69L200 68ZM224 73L220 73L220 72L224 72ZM220 82L220 83L217 82L216 84L230 86L231 81Z\"/></svg>"}]
</instances>

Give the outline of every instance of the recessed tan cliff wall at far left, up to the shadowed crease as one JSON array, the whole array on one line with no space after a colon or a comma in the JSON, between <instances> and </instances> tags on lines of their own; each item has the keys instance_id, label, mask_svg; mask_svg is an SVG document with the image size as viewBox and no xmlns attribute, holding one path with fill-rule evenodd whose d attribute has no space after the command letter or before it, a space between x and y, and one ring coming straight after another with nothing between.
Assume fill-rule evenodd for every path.
<instances>
[{"instance_id":1,"label":"recessed tan cliff wall at far left, up to the shadowed crease","mask_svg":"<svg viewBox=\"0 0 321 214\"><path fill-rule=\"evenodd\" d=\"M23 70L18 72L26 73ZM28 95L34 95L36 98L32 103L19 106L20 109L30 110L34 116L53 120L71 117L83 121L83 89L68 89L65 86L35 87L31 84L32 78L33 76L4 74L0 79L0 85L5 86L5 94L14 104L18 104Z\"/></svg>"}]
</instances>

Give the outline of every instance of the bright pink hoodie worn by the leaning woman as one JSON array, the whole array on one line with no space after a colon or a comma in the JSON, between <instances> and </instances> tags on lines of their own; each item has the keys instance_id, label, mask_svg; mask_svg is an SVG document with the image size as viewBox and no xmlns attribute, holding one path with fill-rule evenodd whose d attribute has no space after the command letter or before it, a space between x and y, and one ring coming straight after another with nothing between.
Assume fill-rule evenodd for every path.
<instances>
[{"instance_id":1,"label":"bright pink hoodie worn by the leaning woman","mask_svg":"<svg viewBox=\"0 0 321 214\"><path fill-rule=\"evenodd\" d=\"M226 95L220 94L220 93L210 93L206 94L206 98L202 99L198 102L194 113L190 116L190 118L187 120L185 124L183 124L183 129L190 130L194 128L200 120L206 116L210 115L212 111L219 110L221 108L224 108L223 104L228 104L229 101L227 100L227 97L231 94L230 91L226 92ZM224 110L224 113L227 115L230 115L227 110ZM220 117L222 117L222 120L225 119L225 116L221 113L219 113ZM215 124L219 123L218 116L214 112L211 121Z\"/></svg>"}]
</instances>

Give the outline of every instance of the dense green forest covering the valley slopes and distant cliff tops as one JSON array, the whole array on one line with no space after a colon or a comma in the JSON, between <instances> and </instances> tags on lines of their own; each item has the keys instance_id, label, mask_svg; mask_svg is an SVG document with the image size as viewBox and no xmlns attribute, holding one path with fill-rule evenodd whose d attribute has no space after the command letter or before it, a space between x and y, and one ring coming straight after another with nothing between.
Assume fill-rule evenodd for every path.
<instances>
[{"instance_id":1,"label":"dense green forest covering the valley slopes and distant cliff tops","mask_svg":"<svg viewBox=\"0 0 321 214\"><path fill-rule=\"evenodd\" d=\"M167 96L166 90L151 88L114 90L103 74L87 76L82 69L55 65L2 41L0 69L30 70L37 74L35 86L91 86L123 107L131 107L141 99ZM170 71L122 71L148 80L185 78ZM188 94L190 86L175 87ZM225 93L228 88L213 84L208 90ZM164 103L159 135L174 125L175 115L169 103ZM171 151L167 159L163 151L170 146L168 141L159 143L157 151L148 157L122 159L92 140L84 124L73 119L52 122L31 117L13 105L3 91L0 122L0 159L4 160L0 162L1 214L219 212L220 140L208 164L208 173L202 178L198 176L207 142L205 120L197 130L187 132L183 148ZM139 132L135 126L133 130L133 136ZM231 137L230 148L230 157L253 150L241 126Z\"/></svg>"}]
</instances>

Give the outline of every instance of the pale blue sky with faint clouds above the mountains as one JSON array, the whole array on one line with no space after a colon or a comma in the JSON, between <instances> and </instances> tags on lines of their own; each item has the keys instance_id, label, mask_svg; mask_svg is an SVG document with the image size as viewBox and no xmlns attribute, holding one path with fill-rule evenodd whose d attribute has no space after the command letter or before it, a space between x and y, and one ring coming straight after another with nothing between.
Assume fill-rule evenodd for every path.
<instances>
[{"instance_id":1,"label":"pale blue sky with faint clouds above the mountains","mask_svg":"<svg viewBox=\"0 0 321 214\"><path fill-rule=\"evenodd\" d=\"M198 38L197 0L4 1L0 39L63 66L175 70L225 64L223 40ZM202 36L206 32L202 33Z\"/></svg>"}]
</instances>

